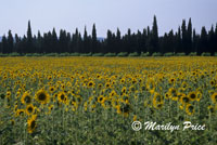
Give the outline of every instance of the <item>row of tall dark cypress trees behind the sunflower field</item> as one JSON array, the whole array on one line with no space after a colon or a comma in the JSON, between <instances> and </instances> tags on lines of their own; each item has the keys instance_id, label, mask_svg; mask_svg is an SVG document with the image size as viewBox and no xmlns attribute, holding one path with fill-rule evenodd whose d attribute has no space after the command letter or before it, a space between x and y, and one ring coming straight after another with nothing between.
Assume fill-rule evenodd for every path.
<instances>
[{"instance_id":1,"label":"row of tall dark cypress trees behind the sunflower field","mask_svg":"<svg viewBox=\"0 0 217 145\"><path fill-rule=\"evenodd\" d=\"M71 34L61 29L58 37L55 28L43 35L38 31L37 35L31 34L30 21L28 22L27 32L23 37L14 36L9 30L8 36L3 36L0 42L0 53L141 53L159 52L162 54L167 52L186 53L209 52L214 54L217 52L217 24L216 27L212 25L207 30L202 27L201 34L196 34L192 28L191 18L188 24L186 19L182 21L177 31L173 29L165 32L164 36L158 36L156 16L153 18L153 25L149 26L142 31L120 34L117 28L116 32L107 30L106 38L100 40L97 37L95 24L92 26L92 34L88 35L85 27L85 32L81 35L76 28L75 32Z\"/></svg>"}]
</instances>

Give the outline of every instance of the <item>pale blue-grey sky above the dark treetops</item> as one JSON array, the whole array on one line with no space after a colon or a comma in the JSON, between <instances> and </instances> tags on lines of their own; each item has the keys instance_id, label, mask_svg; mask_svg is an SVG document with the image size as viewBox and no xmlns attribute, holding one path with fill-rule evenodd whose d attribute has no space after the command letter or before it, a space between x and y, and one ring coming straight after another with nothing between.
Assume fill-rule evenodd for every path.
<instances>
[{"instance_id":1,"label":"pale blue-grey sky above the dark treetops","mask_svg":"<svg viewBox=\"0 0 217 145\"><path fill-rule=\"evenodd\" d=\"M92 25L98 37L105 37L107 29L122 35L130 28L132 32L152 26L156 15L158 34L177 31L182 19L192 18L196 32L217 23L217 0L0 0L0 36L12 34L23 36L30 21L31 30L37 35L54 27L74 32L76 28L88 35Z\"/></svg>"}]
</instances>

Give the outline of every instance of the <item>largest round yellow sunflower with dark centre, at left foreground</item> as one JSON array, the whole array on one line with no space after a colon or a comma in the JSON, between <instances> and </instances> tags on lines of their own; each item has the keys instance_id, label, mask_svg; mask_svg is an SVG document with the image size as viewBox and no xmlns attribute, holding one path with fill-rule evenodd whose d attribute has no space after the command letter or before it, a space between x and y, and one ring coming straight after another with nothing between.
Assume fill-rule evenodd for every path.
<instances>
[{"instance_id":1,"label":"largest round yellow sunflower with dark centre, at left foreground","mask_svg":"<svg viewBox=\"0 0 217 145\"><path fill-rule=\"evenodd\" d=\"M50 95L44 90L39 90L36 93L35 98L40 104L48 104L50 102Z\"/></svg>"}]
</instances>

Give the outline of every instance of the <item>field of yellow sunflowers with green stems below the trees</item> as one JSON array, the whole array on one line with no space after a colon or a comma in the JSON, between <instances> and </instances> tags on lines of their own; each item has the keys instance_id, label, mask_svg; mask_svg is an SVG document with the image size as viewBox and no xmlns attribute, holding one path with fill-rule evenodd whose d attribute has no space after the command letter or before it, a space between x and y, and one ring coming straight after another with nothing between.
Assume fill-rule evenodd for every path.
<instances>
[{"instance_id":1,"label":"field of yellow sunflowers with green stems below the trees","mask_svg":"<svg viewBox=\"0 0 217 145\"><path fill-rule=\"evenodd\" d=\"M216 120L217 57L0 57L0 145L215 145Z\"/></svg>"}]
</instances>

